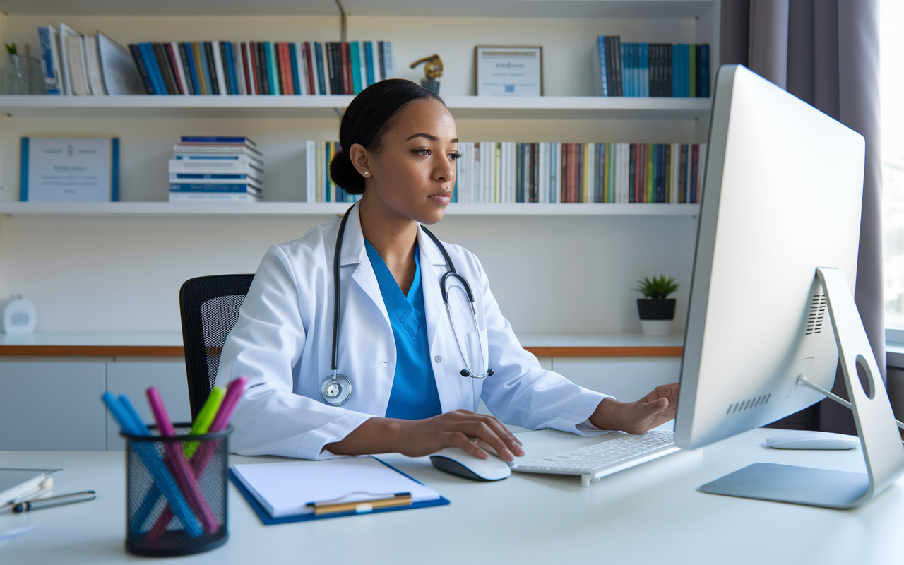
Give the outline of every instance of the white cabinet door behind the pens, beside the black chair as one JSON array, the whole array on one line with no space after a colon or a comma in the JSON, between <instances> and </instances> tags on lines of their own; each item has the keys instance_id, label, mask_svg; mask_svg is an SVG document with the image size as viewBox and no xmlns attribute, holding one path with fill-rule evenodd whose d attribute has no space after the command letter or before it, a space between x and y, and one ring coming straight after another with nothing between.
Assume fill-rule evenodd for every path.
<instances>
[{"instance_id":1,"label":"white cabinet door behind the pens, beside the black chair","mask_svg":"<svg viewBox=\"0 0 904 565\"><path fill-rule=\"evenodd\" d=\"M154 415L151 414L145 395L150 386L155 386L160 391L171 420L174 422L192 420L184 363L107 364L107 390L117 396L125 394L146 424L154 423ZM126 444L119 436L119 426L108 414L107 450L122 451L125 448Z\"/></svg>"}]
</instances>

